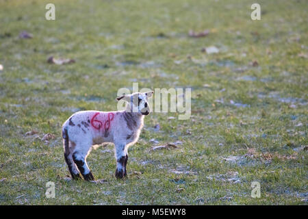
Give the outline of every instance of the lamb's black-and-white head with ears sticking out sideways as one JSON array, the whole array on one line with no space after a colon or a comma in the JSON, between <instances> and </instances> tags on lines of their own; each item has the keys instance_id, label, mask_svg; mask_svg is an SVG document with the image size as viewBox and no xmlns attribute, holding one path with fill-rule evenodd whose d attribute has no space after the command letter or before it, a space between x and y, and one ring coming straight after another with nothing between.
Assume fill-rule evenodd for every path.
<instances>
[{"instance_id":1,"label":"lamb's black-and-white head with ears sticking out sideways","mask_svg":"<svg viewBox=\"0 0 308 219\"><path fill-rule=\"evenodd\" d=\"M123 96L119 96L116 98L117 101L123 99L128 103L127 110L129 112L138 112L142 115L149 115L150 114L150 107L148 103L148 98L153 95L153 91L144 92L144 93L133 93L133 94L126 94Z\"/></svg>"}]
</instances>

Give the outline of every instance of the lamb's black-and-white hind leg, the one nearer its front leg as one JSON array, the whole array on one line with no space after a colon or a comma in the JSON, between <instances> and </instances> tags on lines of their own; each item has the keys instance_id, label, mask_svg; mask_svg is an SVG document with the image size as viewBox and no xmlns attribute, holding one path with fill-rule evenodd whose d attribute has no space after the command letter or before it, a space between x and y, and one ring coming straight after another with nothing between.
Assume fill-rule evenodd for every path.
<instances>
[{"instance_id":1,"label":"lamb's black-and-white hind leg, the one nearer its front leg","mask_svg":"<svg viewBox=\"0 0 308 219\"><path fill-rule=\"evenodd\" d=\"M86 162L86 158L88 155L88 151L91 146L81 146L77 145L75 151L73 152L73 160L77 165L77 168L81 172L81 175L84 177L86 181L93 181L94 177L92 175L91 170L88 168L88 164Z\"/></svg>"}]
</instances>

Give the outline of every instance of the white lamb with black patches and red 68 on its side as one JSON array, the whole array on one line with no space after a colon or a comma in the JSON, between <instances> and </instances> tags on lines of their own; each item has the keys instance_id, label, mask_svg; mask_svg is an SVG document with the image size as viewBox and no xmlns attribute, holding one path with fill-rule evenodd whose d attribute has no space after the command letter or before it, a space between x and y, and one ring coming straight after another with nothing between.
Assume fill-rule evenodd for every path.
<instances>
[{"instance_id":1,"label":"white lamb with black patches and red 68 on its side","mask_svg":"<svg viewBox=\"0 0 308 219\"><path fill-rule=\"evenodd\" d=\"M62 126L64 159L73 179L94 181L86 158L92 146L104 142L114 143L116 157L116 178L127 176L127 149L138 141L144 116L149 115L148 98L151 92L136 92L119 96L127 106L123 111L100 112L79 111L70 116Z\"/></svg>"}]
</instances>

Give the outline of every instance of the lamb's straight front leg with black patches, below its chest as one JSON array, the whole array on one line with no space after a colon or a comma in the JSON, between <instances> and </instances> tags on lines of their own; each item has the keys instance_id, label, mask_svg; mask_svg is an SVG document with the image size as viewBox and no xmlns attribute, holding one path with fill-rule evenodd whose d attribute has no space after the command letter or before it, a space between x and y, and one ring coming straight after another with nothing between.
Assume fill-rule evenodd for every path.
<instances>
[{"instance_id":1,"label":"lamb's straight front leg with black patches, below its chest","mask_svg":"<svg viewBox=\"0 0 308 219\"><path fill-rule=\"evenodd\" d=\"M121 179L126 176L127 153L125 144L119 143L116 146L116 178Z\"/></svg>"}]
</instances>

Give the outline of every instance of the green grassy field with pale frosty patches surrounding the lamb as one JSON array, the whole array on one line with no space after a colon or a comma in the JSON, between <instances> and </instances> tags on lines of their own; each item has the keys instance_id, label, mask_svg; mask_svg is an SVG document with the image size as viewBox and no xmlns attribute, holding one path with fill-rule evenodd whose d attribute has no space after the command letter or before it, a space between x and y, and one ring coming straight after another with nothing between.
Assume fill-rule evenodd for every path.
<instances>
[{"instance_id":1,"label":"green grassy field with pale frosty patches surrounding the lamb","mask_svg":"<svg viewBox=\"0 0 308 219\"><path fill-rule=\"evenodd\" d=\"M59 0L46 21L50 2L0 1L1 205L307 205L307 1L257 1L261 21L246 0ZM23 30L33 38L18 38ZM219 52L202 51L211 46ZM116 110L117 90L133 82L192 88L190 120L146 117L128 179L114 177L110 145L88 157L106 183L67 181L62 123ZM182 144L149 152L153 138Z\"/></svg>"}]
</instances>

